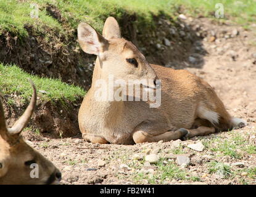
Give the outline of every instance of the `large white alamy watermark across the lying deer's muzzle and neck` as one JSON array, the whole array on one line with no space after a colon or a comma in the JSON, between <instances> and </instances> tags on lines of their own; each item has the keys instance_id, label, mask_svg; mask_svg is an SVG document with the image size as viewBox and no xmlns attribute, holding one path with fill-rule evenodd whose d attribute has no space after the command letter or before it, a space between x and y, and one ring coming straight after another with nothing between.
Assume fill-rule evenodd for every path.
<instances>
[{"instance_id":1,"label":"large white alamy watermark across the lying deer's muzzle and neck","mask_svg":"<svg viewBox=\"0 0 256 197\"><path fill-rule=\"evenodd\" d=\"M161 105L160 79L114 79L109 74L108 79L97 79L94 98L99 102L112 101L144 101L149 102L150 108Z\"/></svg>"}]
</instances>

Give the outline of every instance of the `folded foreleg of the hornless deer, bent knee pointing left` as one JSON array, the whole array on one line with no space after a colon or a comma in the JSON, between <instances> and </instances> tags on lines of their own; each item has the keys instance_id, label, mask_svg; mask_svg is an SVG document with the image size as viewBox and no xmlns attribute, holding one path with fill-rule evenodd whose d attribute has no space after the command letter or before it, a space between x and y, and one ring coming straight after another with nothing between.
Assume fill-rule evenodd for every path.
<instances>
[{"instance_id":1,"label":"folded foreleg of the hornless deer, bent knee pointing left","mask_svg":"<svg viewBox=\"0 0 256 197\"><path fill-rule=\"evenodd\" d=\"M188 130L186 129L167 131L159 135L152 135L148 132L139 130L133 133L133 140L135 143L159 142L160 140L163 140L163 142L168 142L171 140L181 139L185 135L188 135Z\"/></svg>"}]
</instances>

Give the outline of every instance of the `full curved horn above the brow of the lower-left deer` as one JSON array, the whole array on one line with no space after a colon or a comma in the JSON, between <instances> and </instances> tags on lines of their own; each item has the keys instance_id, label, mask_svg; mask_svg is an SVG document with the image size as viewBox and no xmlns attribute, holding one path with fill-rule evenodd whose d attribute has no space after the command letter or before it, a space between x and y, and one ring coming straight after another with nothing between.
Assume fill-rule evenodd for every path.
<instances>
[{"instance_id":1,"label":"full curved horn above the brow of the lower-left deer","mask_svg":"<svg viewBox=\"0 0 256 197\"><path fill-rule=\"evenodd\" d=\"M19 134L22 132L22 129L27 125L28 121L30 121L31 115L33 114L33 111L36 106L36 87L35 84L31 81L31 79L28 79L31 86L33 87L33 95L30 100L30 104L28 105L27 109L23 113L23 115L17 120L17 122L14 124L13 127L7 128L7 131L10 135ZM1 125L1 122L0 122Z\"/></svg>"}]
</instances>

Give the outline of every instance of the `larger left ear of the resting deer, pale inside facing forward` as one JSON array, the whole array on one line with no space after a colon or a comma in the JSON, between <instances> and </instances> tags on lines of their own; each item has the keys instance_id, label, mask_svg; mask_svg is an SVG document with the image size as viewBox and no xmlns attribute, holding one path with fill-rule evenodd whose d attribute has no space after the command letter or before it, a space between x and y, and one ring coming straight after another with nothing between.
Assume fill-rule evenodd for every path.
<instances>
[{"instance_id":1,"label":"larger left ear of the resting deer, pale inside facing forward","mask_svg":"<svg viewBox=\"0 0 256 197\"><path fill-rule=\"evenodd\" d=\"M87 54L99 55L108 46L108 42L88 23L78 25L78 42Z\"/></svg>"}]
</instances>

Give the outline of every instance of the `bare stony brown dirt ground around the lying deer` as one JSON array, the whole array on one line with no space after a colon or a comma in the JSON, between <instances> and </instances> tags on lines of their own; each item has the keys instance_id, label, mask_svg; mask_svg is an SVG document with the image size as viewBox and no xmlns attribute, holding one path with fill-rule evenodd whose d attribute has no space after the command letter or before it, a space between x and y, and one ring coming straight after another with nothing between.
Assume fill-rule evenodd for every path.
<instances>
[{"instance_id":1,"label":"bare stony brown dirt ground around the lying deer","mask_svg":"<svg viewBox=\"0 0 256 197\"><path fill-rule=\"evenodd\" d=\"M63 176L62 184L256 183L255 175L247 171L247 169L256 169L255 151L242 152L240 157L221 155L221 150L215 151L205 144L205 140L224 141L239 134L251 145L256 145L256 46L253 44L256 43L255 34L253 31L244 30L241 26L220 25L207 18L187 18L187 20L195 31L206 33L207 36L201 42L194 42L189 60L184 60L190 62L186 63L185 69L209 82L225 103L229 113L237 118L246 119L249 125L232 132L194 137L183 142L139 145L97 145L85 142L81 135L64 139L46 137L31 139L26 135L25 139L31 147L40 151L59 167ZM204 55L197 50L202 48L207 54ZM196 68L195 65L199 62L202 63L202 68ZM195 151L187 147L197 142L203 142L203 151ZM175 152L174 149L180 152ZM188 156L190 158L188 166L177 164L177 167L189 175L186 175L185 179L171 178L171 175L163 180L157 179L157 174L163 173L164 170L161 166L149 164L144 159L144 156L152 151L162 159L163 165L175 164L177 155ZM134 159L135 154L140 155L141 158ZM213 162L231 166L233 175L225 176L211 172L209 164ZM234 164L237 162L242 164ZM196 178L189 179L189 177Z\"/></svg>"}]
</instances>

